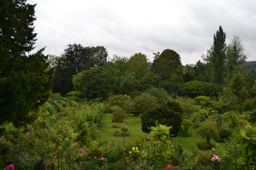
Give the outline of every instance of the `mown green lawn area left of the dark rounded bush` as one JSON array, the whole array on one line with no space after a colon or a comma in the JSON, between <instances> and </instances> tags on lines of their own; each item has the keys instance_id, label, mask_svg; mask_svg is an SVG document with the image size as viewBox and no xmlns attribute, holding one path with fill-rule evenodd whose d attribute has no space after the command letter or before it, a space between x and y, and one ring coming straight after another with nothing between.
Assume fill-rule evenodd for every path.
<instances>
[{"instance_id":1,"label":"mown green lawn area left of the dark rounded bush","mask_svg":"<svg viewBox=\"0 0 256 170\"><path fill-rule=\"evenodd\" d=\"M100 141L103 138L105 138L107 141L123 141L124 137L118 137L113 135L113 131L117 130L118 128L113 128L112 125L120 123L113 123L111 119L112 113L106 113L100 127L100 132L96 136L97 141ZM146 133L143 133L143 131L141 131L141 118L139 116L130 116L129 119L127 119L126 126L129 128L130 132L130 136L125 137L126 142L132 142L135 136L140 138L141 140L145 137Z\"/></svg>"}]
</instances>

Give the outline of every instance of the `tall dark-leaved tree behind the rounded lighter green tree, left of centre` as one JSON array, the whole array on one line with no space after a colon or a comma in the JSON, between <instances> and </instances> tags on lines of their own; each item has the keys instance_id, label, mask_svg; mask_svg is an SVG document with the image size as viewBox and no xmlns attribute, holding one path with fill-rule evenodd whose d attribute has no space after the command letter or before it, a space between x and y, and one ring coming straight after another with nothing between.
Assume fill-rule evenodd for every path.
<instances>
[{"instance_id":1,"label":"tall dark-leaved tree behind the rounded lighter green tree, left of centre","mask_svg":"<svg viewBox=\"0 0 256 170\"><path fill-rule=\"evenodd\" d=\"M68 44L55 67L53 91L63 95L74 90L73 75L88 70L90 67L102 66L107 60L108 52L103 46L84 47L81 44Z\"/></svg>"}]
</instances>

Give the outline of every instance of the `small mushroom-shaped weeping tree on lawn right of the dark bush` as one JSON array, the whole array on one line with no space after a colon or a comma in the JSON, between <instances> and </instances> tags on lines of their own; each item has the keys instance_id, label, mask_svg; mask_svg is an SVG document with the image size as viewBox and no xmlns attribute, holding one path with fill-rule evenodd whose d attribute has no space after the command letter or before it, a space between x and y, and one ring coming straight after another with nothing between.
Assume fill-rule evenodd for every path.
<instances>
[{"instance_id":1,"label":"small mushroom-shaped weeping tree on lawn right of the dark bush","mask_svg":"<svg viewBox=\"0 0 256 170\"><path fill-rule=\"evenodd\" d=\"M197 133L206 138L206 143L210 143L210 139L212 137L219 137L218 129L216 125L210 121L207 120L203 123L201 123L201 126L197 129Z\"/></svg>"}]
</instances>

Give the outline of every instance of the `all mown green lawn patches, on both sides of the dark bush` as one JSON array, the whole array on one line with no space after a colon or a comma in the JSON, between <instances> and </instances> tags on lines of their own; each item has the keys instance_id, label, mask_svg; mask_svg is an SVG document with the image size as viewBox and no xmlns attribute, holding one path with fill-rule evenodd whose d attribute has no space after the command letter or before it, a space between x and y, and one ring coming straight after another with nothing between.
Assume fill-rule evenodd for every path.
<instances>
[{"instance_id":1,"label":"all mown green lawn patches, on both sides of the dark bush","mask_svg":"<svg viewBox=\"0 0 256 170\"><path fill-rule=\"evenodd\" d=\"M100 127L100 132L96 136L96 140L100 141L101 139L106 139L107 141L123 141L124 137L117 137L113 135L113 131L117 130L117 128L113 128L113 124L120 124L120 123L113 123L111 121L112 119L112 113L106 113L104 115L104 118L102 119L102 125ZM147 135L146 133L143 133L141 131L141 118L139 116L130 116L130 118L127 120L127 125L129 128L129 132L131 136L125 137L126 142L132 142L133 139L136 137L140 138L141 140ZM195 148L195 143L197 140L205 140L204 138L200 137L195 133L195 130L193 130L194 137L176 137L177 141L183 145L184 152L192 152L192 150ZM225 143L218 143L218 145L225 148Z\"/></svg>"}]
</instances>

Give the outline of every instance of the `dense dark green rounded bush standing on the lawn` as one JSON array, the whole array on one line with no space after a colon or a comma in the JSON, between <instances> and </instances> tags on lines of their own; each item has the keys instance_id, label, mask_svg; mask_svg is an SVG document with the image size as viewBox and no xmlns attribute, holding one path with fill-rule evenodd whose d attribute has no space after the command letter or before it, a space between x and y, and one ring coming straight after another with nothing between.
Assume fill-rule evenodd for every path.
<instances>
[{"instance_id":1,"label":"dense dark green rounded bush standing on the lawn","mask_svg":"<svg viewBox=\"0 0 256 170\"><path fill-rule=\"evenodd\" d=\"M173 100L160 103L141 114L141 129L145 133L150 132L150 127L156 127L156 122L168 127L172 126L170 136L176 137L181 126L181 107Z\"/></svg>"}]
</instances>

